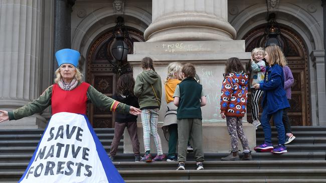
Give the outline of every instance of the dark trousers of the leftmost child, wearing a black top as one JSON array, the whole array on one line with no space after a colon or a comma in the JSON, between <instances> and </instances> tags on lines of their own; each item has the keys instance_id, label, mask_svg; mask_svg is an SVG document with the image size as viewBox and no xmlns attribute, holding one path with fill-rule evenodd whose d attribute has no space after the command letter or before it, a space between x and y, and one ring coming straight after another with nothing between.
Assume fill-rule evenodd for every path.
<instances>
[{"instance_id":1,"label":"dark trousers of the leftmost child, wearing a black top","mask_svg":"<svg viewBox=\"0 0 326 183\"><path fill-rule=\"evenodd\" d=\"M139 141L137 135L137 122L115 122L114 126L114 137L111 143L111 151L110 155L114 156L118 149L118 145L120 143L121 136L123 135L124 128L127 127L131 143L133 153L139 155Z\"/></svg>"}]
</instances>

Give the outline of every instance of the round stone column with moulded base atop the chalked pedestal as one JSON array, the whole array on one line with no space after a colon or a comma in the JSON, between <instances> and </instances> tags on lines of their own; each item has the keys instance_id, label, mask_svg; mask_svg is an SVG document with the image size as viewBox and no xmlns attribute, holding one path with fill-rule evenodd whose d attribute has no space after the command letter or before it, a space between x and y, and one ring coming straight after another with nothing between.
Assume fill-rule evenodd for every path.
<instances>
[{"instance_id":1,"label":"round stone column with moulded base atop the chalked pedestal","mask_svg":"<svg viewBox=\"0 0 326 183\"><path fill-rule=\"evenodd\" d=\"M227 0L153 0L147 41L232 40Z\"/></svg>"}]
</instances>

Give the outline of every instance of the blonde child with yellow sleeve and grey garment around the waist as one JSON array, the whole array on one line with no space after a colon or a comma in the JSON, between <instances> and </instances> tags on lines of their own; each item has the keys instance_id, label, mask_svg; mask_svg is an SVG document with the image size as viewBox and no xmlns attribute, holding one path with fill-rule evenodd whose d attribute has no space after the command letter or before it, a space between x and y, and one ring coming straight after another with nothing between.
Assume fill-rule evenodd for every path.
<instances>
[{"instance_id":1,"label":"blonde child with yellow sleeve and grey garment around the waist","mask_svg":"<svg viewBox=\"0 0 326 183\"><path fill-rule=\"evenodd\" d=\"M182 79L182 64L179 62L172 62L168 65L168 77L164 81L164 87L166 91L166 100L168 110L164 118L164 124L162 129L165 133L167 140L169 141L169 154L168 161L176 161L176 147L178 142L178 123L177 123L177 106L173 103L173 94L176 90L177 84Z\"/></svg>"}]
</instances>

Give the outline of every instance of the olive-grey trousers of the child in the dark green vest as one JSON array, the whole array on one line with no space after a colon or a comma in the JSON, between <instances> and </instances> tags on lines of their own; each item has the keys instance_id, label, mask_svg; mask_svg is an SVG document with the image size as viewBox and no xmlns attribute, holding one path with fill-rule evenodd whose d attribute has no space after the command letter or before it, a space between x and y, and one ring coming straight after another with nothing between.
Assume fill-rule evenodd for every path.
<instances>
[{"instance_id":1,"label":"olive-grey trousers of the child in the dark green vest","mask_svg":"<svg viewBox=\"0 0 326 183\"><path fill-rule=\"evenodd\" d=\"M204 161L202 119L178 119L178 161L186 162L189 135L192 139L196 161Z\"/></svg>"}]
</instances>

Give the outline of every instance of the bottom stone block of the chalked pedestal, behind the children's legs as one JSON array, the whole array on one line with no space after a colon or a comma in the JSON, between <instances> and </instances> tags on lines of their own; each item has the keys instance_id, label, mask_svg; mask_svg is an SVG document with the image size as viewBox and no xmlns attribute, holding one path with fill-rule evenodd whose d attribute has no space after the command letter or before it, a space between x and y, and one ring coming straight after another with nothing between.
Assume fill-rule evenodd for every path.
<instances>
[{"instance_id":1,"label":"bottom stone block of the chalked pedestal, behind the children's legs","mask_svg":"<svg viewBox=\"0 0 326 183\"><path fill-rule=\"evenodd\" d=\"M164 153L168 153L169 145L168 141L165 139L163 130L161 129L162 123L158 124L158 134L161 138L162 148ZM248 138L249 147L253 149L256 146L256 131L252 124L244 122L243 123L244 132ZM142 133L141 123L137 124L137 134L139 140L140 152L144 152L144 141ZM239 141L239 150L242 149L242 145ZM128 131L124 130L124 140L123 140L123 153L133 153L132 145L130 141L130 136ZM177 147L178 149L178 147ZM203 149L204 152L228 152L231 150L230 135L227 130L226 122L218 123L203 123ZM150 138L150 152L156 153L156 147L154 139Z\"/></svg>"}]
</instances>

